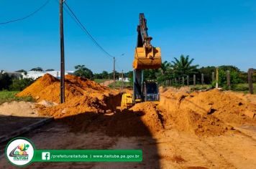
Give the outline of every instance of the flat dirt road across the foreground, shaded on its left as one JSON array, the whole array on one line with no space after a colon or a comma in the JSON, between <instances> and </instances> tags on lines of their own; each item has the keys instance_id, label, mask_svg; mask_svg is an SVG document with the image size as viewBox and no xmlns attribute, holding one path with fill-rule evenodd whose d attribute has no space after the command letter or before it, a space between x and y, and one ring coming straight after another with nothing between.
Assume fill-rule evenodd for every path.
<instances>
[{"instance_id":1,"label":"flat dirt road across the foreground, shaded on its left","mask_svg":"<svg viewBox=\"0 0 256 169\"><path fill-rule=\"evenodd\" d=\"M105 115L104 115L105 116ZM105 118L105 117L103 117ZM107 117L106 117L107 118ZM142 149L142 163L33 163L27 168L255 168L256 140L237 130L199 137L172 125L156 135L108 135L102 117L86 123L83 132L55 121L27 135L38 149ZM129 128L129 121L123 123ZM71 127L72 129L72 127ZM126 132L122 130L122 132ZM255 132L255 131L254 131ZM0 148L4 149L4 144ZM0 160L1 168L14 168Z\"/></svg>"}]
</instances>

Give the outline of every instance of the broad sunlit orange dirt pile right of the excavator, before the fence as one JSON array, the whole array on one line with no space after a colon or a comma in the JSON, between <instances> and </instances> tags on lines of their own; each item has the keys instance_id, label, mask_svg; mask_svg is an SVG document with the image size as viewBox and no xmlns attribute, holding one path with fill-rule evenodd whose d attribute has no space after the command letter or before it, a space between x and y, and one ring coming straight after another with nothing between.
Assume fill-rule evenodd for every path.
<instances>
[{"instance_id":1,"label":"broad sunlit orange dirt pile right of the excavator, before the fence","mask_svg":"<svg viewBox=\"0 0 256 169\"><path fill-rule=\"evenodd\" d=\"M160 105L178 129L197 135L220 135L232 129L230 125L256 125L256 119L247 116L256 113L256 105L220 90L188 93L169 89L161 94Z\"/></svg>"}]
</instances>

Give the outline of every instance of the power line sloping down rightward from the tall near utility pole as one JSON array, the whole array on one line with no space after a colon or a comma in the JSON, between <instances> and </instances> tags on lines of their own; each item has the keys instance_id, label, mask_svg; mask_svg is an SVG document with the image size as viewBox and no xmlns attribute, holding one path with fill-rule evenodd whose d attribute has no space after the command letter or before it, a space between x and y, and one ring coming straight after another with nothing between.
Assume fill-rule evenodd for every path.
<instances>
[{"instance_id":1,"label":"power line sloping down rightward from the tall near utility pole","mask_svg":"<svg viewBox=\"0 0 256 169\"><path fill-rule=\"evenodd\" d=\"M111 58L114 58L114 57L111 56L111 54L109 54L109 52L106 52L106 50L105 50L103 47L101 47L101 45L100 45L98 42L96 42L96 39L93 38L93 36L90 34L90 32L88 32L88 30L86 29L86 27L81 23L81 21L79 21L79 19L78 19L78 17L76 16L76 14L72 11L72 9L70 9L70 7L68 6L67 3L65 3L65 1L64 1L64 4L65 4L65 6L67 6L68 11L70 11L71 14L73 15L73 17L71 16L71 18L72 18L74 21L76 21L77 24L80 25L80 28L81 28L84 32L86 32L86 34L87 34L88 37L91 39L91 41L93 42L93 44L95 44L96 47L99 47L99 49L101 49L101 51L104 52L104 53L106 54L106 56L111 57ZM68 14L70 14L70 13L68 13Z\"/></svg>"}]
</instances>

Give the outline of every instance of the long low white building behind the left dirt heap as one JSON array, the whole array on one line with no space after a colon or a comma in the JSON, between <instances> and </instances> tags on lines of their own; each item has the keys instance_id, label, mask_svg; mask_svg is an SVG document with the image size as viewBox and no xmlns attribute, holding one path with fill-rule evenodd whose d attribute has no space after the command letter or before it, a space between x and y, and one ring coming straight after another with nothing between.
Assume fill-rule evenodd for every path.
<instances>
[{"instance_id":1,"label":"long low white building behind the left dirt heap","mask_svg":"<svg viewBox=\"0 0 256 169\"><path fill-rule=\"evenodd\" d=\"M65 71L66 74L73 74L74 71ZM27 74L22 72L22 77L23 78L32 78L32 79L37 79L38 77L42 77L45 74L51 74L53 77L56 77L60 79L60 71L28 71Z\"/></svg>"}]
</instances>

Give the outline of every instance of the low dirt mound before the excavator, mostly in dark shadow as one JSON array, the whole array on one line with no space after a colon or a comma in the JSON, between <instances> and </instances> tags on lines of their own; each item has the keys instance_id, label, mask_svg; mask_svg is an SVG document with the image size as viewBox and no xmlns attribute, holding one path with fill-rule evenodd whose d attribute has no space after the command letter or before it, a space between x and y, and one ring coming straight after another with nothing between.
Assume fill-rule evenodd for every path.
<instances>
[{"instance_id":1,"label":"low dirt mound before the excavator, mostly in dark shadow","mask_svg":"<svg viewBox=\"0 0 256 169\"><path fill-rule=\"evenodd\" d=\"M155 135L165 129L165 115L152 102L138 103L129 110L111 114L94 111L76 116L64 117L60 121L70 126L73 132L94 132L102 130L109 136Z\"/></svg>"}]
</instances>

